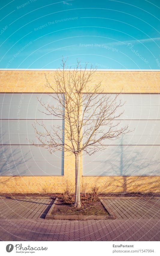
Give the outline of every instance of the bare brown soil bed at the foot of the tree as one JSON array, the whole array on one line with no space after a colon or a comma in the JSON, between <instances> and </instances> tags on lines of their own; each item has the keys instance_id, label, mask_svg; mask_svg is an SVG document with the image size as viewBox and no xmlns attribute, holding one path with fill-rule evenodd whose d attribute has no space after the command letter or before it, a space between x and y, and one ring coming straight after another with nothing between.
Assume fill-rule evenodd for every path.
<instances>
[{"instance_id":1,"label":"bare brown soil bed at the foot of the tree","mask_svg":"<svg viewBox=\"0 0 160 256\"><path fill-rule=\"evenodd\" d=\"M58 199L51 213L52 215L109 215L107 210L98 202L81 201L81 208L75 208L71 204Z\"/></svg>"}]
</instances>

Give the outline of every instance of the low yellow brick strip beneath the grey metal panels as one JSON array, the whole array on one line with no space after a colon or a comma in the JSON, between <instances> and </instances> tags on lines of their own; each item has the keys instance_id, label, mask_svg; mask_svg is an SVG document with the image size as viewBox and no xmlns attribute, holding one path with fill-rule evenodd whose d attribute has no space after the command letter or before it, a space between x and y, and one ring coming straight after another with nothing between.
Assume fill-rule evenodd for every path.
<instances>
[{"instance_id":1,"label":"low yellow brick strip beneath the grey metal panels","mask_svg":"<svg viewBox=\"0 0 160 256\"><path fill-rule=\"evenodd\" d=\"M71 179L68 179L71 178ZM2 176L0 178L1 193L35 193L52 192L61 193L66 187L66 181L74 192L74 175L64 176ZM91 187L97 185L99 192L160 192L159 176L103 176L103 177L81 177L82 183L87 185L87 192Z\"/></svg>"}]
</instances>

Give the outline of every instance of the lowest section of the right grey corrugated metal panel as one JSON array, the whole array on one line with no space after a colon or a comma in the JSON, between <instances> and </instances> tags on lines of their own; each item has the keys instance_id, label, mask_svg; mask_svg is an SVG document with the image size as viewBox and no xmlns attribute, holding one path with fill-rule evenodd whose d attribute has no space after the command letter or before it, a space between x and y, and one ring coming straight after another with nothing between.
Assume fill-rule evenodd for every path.
<instances>
[{"instance_id":1,"label":"lowest section of the right grey corrugated metal panel","mask_svg":"<svg viewBox=\"0 0 160 256\"><path fill-rule=\"evenodd\" d=\"M160 147L109 146L91 156L83 153L84 176L160 175Z\"/></svg>"}]
</instances>

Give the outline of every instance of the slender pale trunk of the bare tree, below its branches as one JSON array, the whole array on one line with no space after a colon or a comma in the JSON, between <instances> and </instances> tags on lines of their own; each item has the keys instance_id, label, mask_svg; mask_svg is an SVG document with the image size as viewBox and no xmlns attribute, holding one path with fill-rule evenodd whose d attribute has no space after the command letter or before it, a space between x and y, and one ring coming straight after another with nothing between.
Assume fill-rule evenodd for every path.
<instances>
[{"instance_id":1,"label":"slender pale trunk of the bare tree, below its branches","mask_svg":"<svg viewBox=\"0 0 160 256\"><path fill-rule=\"evenodd\" d=\"M75 178L76 178L76 189L75 189L75 200L74 200L74 207L80 208L80 154L76 154L76 161L75 161Z\"/></svg>"}]
</instances>

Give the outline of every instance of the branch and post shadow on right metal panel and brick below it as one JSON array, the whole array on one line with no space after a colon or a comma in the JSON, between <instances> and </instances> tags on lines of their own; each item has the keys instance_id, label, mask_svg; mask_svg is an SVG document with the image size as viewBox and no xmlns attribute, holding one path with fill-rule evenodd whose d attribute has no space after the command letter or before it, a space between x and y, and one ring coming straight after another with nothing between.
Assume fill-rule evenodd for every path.
<instances>
[{"instance_id":1,"label":"branch and post shadow on right metal panel and brick below it","mask_svg":"<svg viewBox=\"0 0 160 256\"><path fill-rule=\"evenodd\" d=\"M152 147L152 145L151 145ZM126 149L125 149L126 150ZM125 152L126 154L126 152ZM114 155L119 157L119 162L112 161L110 165L110 173L114 176L100 176L96 177L96 185L98 186L103 180L105 187L103 190L106 192L106 187L109 188L108 192L159 192L160 191L160 178L157 175L159 171L158 158L152 157L149 159L144 157L140 150L132 151L129 157L124 157L123 140L119 148L114 151ZM149 169L151 166L151 169ZM138 173L140 175L138 175ZM155 175L154 175L155 172ZM106 172L105 172L106 173ZM129 174L128 174L129 173ZM135 174L134 174L135 173ZM102 182L104 183L104 182Z\"/></svg>"}]
</instances>

